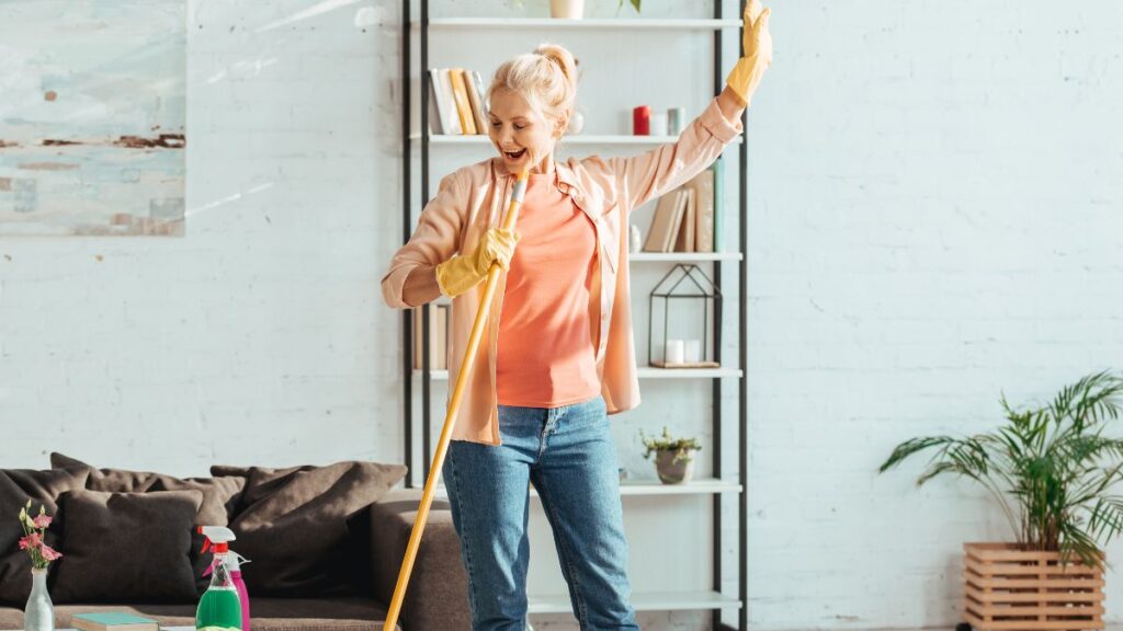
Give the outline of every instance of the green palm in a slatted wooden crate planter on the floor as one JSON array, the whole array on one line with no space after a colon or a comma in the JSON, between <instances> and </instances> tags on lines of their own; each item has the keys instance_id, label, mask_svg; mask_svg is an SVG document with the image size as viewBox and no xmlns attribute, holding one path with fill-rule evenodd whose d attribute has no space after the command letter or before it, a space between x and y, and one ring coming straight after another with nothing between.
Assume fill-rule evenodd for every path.
<instances>
[{"instance_id":1,"label":"green palm in a slatted wooden crate planter on the floor","mask_svg":"<svg viewBox=\"0 0 1123 631\"><path fill-rule=\"evenodd\" d=\"M1001 399L1006 420L969 437L898 445L879 473L931 451L916 479L952 475L982 485L1013 530L1012 542L965 543L964 615L977 630L1103 628L1102 546L1123 531L1123 440L1105 436L1120 415L1123 378L1088 375L1048 404ZM1098 627L1097 627L1098 625Z\"/></svg>"}]
</instances>

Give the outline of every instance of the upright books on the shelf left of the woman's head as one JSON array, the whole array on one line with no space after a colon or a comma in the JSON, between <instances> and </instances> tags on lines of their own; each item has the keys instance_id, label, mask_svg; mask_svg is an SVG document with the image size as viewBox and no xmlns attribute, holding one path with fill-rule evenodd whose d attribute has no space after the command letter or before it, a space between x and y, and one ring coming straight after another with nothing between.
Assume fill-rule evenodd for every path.
<instances>
[{"instance_id":1,"label":"upright books on the shelf left of the woman's head","mask_svg":"<svg viewBox=\"0 0 1123 631\"><path fill-rule=\"evenodd\" d=\"M478 72L454 68L429 71L429 131L453 136L487 134L487 103Z\"/></svg>"}]
</instances>

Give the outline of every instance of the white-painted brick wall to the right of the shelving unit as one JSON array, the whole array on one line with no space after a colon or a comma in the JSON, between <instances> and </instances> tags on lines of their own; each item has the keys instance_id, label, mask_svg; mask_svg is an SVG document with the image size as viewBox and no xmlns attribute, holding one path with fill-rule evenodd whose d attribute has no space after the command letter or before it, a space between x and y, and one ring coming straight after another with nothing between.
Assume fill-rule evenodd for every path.
<instances>
[{"instance_id":1,"label":"white-painted brick wall to the right of the shelving unit","mask_svg":"<svg viewBox=\"0 0 1123 631\"><path fill-rule=\"evenodd\" d=\"M1120 367L1113 2L796 2L750 135L750 621L958 621L966 484L877 477ZM1119 555L1113 551L1113 558ZM1108 616L1120 620L1120 578Z\"/></svg>"}]
</instances>

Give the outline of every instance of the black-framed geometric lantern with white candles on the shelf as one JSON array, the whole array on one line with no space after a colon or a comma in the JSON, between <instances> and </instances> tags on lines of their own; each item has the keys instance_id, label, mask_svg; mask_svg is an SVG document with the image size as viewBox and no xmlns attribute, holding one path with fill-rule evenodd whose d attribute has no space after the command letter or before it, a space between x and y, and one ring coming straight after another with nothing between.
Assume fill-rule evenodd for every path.
<instances>
[{"instance_id":1,"label":"black-framed geometric lantern with white candles on the shelf","mask_svg":"<svg viewBox=\"0 0 1123 631\"><path fill-rule=\"evenodd\" d=\"M710 348L710 310L713 309L713 313L721 318L721 290L701 267L676 264L651 290L649 300L648 365L659 368L719 367ZM657 344L658 340L661 342Z\"/></svg>"}]
</instances>

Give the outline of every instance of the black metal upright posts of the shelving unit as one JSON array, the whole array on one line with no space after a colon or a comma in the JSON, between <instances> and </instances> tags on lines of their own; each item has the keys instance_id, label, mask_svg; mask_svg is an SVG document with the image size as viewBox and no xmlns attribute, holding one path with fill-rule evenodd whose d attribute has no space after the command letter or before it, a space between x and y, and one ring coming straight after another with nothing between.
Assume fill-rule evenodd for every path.
<instances>
[{"instance_id":1,"label":"black metal upright posts of the shelving unit","mask_svg":"<svg viewBox=\"0 0 1123 631\"><path fill-rule=\"evenodd\" d=\"M722 0L714 0L713 3L713 17L714 19L722 19ZM745 11L745 0L739 0L738 4L740 10L738 17ZM430 152L430 134L429 134L429 84L426 81L426 70L429 67L429 1L428 0L417 0L417 6L419 10L419 19L417 20L417 31L420 38L420 55L419 63L417 67L419 68L418 76L420 77L420 102L418 107L414 108L414 103L411 98L411 83L413 80L413 56L412 56L412 44L413 44L413 30L414 30L414 18L413 18L413 0L402 0L402 64L401 64L401 90L402 90L402 240L403 243L409 239L412 234L412 228L414 225L413 212L411 207L411 200L413 200L414 189L412 185L413 176L413 165L412 161L414 152L417 150L420 156L420 185L417 190L418 201L423 208L426 202L429 200L429 152ZM723 68L723 29L719 26L713 29L713 91L716 95L724 85ZM738 30L738 42L740 42L741 30ZM420 118L420 138L417 140L418 148L414 148L414 140L411 138L411 122L413 120L413 110L417 110L417 116ZM743 141L740 143L738 147L738 205L737 211L739 216L738 226L738 252L741 254L738 263L738 287L739 296L738 301L738 366L740 367L740 374L736 377L737 379L737 393L738 393L738 404L737 404L737 420L738 427L736 439L738 440L738 483L740 486L740 492L738 493L738 530L740 536L740 542L738 546L738 623L737 627L731 627L722 622L722 609L716 607L712 611L712 628L719 631L747 631L748 630L748 345L747 345L747 331L748 331L748 116L742 115L741 124L745 128ZM723 286L722 278L722 265L721 260L714 262L713 268L713 282L714 285L720 290ZM429 474L429 468L431 466L431 452L432 452L432 405L431 405L431 387L432 387L432 367L430 366L429 357L429 309L428 304L422 308L421 317L421 460L422 466L420 470L420 484L424 483L424 476ZM715 310L713 314L713 327L714 327L714 339L713 339L713 357L720 364L721 363L721 348L722 348L722 311ZM402 339L403 339L403 359L402 359L402 387L404 396L404 418L403 418L403 429L404 429L404 463L409 467L410 474L405 479L405 485L408 487L414 487L418 484L416 478L416 468L413 467L414 451L417 446L414 446L414 417L417 411L413 405L413 345L414 335L419 331L414 330L413 327L413 312L407 310L402 313ZM722 410L722 382L729 379L730 377L715 376L711 378L712 391L711 391L711 406L712 406L712 433L713 433L713 449L711 454L713 455L713 475L715 478L722 478L723 473L723 458L722 458L722 440L725 439L723 435L723 421L724 412ZM450 378L451 383L451 378ZM441 414L440 418L444 418ZM723 507L723 492L713 493L713 574L712 574L712 589L714 592L721 593L722 588L722 507Z\"/></svg>"}]
</instances>

